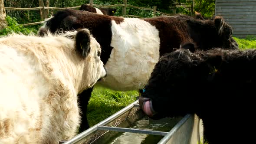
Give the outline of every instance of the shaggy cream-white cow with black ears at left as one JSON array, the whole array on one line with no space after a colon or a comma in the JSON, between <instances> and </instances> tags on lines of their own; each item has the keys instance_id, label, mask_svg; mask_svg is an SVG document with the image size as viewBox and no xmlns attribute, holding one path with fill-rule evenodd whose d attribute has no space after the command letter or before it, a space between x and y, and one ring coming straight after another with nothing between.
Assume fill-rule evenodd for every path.
<instances>
[{"instance_id":1,"label":"shaggy cream-white cow with black ears at left","mask_svg":"<svg viewBox=\"0 0 256 144\"><path fill-rule=\"evenodd\" d=\"M88 29L0 38L0 144L58 144L75 136L77 95L106 71Z\"/></svg>"}]
</instances>

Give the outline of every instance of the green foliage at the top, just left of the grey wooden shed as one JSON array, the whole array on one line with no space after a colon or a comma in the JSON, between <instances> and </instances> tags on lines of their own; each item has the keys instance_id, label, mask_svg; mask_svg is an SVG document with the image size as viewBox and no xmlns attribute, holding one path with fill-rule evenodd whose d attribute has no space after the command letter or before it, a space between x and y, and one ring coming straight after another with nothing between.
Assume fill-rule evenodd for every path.
<instances>
[{"instance_id":1,"label":"green foliage at the top, just left of the grey wooden shed","mask_svg":"<svg viewBox=\"0 0 256 144\"><path fill-rule=\"evenodd\" d=\"M215 0L195 0L194 11L202 14L204 17L211 17L215 10Z\"/></svg>"}]
</instances>

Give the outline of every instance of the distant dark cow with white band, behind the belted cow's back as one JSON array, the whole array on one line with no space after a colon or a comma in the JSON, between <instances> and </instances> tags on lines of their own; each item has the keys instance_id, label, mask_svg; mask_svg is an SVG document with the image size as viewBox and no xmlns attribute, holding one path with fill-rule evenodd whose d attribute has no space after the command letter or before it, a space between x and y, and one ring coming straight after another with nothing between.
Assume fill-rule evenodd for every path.
<instances>
[{"instance_id":1,"label":"distant dark cow with white band, behind the belted cow's back","mask_svg":"<svg viewBox=\"0 0 256 144\"><path fill-rule=\"evenodd\" d=\"M97 8L97 7L92 7L89 6L87 4L82 4L81 7L79 8L79 10L85 10L85 11L89 11L92 13L98 13L98 14L105 14L108 16L114 16L116 9L114 8Z\"/></svg>"}]
</instances>

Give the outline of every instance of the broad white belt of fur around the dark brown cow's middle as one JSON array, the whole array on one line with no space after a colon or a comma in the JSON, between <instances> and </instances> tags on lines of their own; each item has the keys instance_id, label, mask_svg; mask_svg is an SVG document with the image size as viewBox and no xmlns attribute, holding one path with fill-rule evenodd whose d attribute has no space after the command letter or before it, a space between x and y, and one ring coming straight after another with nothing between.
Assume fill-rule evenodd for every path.
<instances>
[{"instance_id":1,"label":"broad white belt of fur around the dark brown cow's middle","mask_svg":"<svg viewBox=\"0 0 256 144\"><path fill-rule=\"evenodd\" d=\"M112 49L105 67L107 77L99 84L114 90L143 88L159 59L158 29L137 18L112 21Z\"/></svg>"}]
</instances>

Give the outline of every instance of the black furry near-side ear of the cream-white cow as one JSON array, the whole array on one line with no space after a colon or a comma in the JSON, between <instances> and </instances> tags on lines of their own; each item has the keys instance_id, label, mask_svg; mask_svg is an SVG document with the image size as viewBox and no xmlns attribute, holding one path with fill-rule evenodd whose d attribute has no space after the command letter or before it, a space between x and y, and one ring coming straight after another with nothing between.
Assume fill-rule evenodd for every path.
<instances>
[{"instance_id":1,"label":"black furry near-side ear of the cream-white cow","mask_svg":"<svg viewBox=\"0 0 256 144\"><path fill-rule=\"evenodd\" d=\"M88 56L91 51L90 37L91 34L88 29L78 30L76 34L76 50L84 58Z\"/></svg>"}]
</instances>

